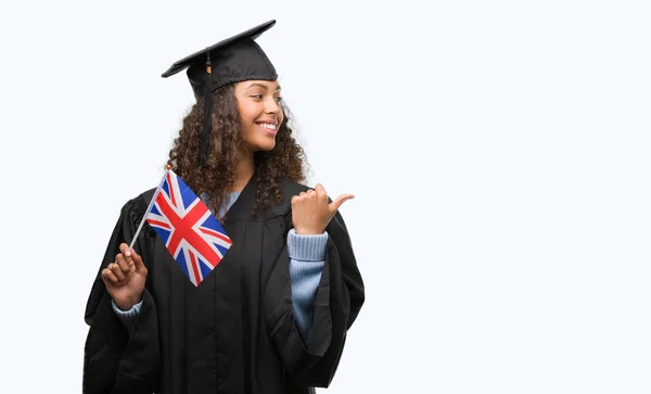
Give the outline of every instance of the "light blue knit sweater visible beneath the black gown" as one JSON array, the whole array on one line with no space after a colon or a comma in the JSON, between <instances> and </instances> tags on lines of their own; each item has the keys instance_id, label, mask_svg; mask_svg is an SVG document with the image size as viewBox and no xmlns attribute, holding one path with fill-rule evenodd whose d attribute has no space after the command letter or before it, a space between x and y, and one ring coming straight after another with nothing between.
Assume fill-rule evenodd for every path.
<instances>
[{"instance_id":1,"label":"light blue knit sweater visible beneath the black gown","mask_svg":"<svg viewBox=\"0 0 651 394\"><path fill-rule=\"evenodd\" d=\"M229 194L219 217L238 200L239 192ZM202 195L204 198L204 195ZM204 199L205 200L205 199ZM215 213L214 209L212 209ZM305 342L309 339L309 329L314 318L314 304L317 289L321 280L321 270L326 264L326 245L328 232L307 236L297 234L294 229L288 234L288 254L290 256L290 278L292 283L292 305L296 326ZM120 317L129 331L135 327L142 302L133 305L129 310L120 310L112 301L113 310Z\"/></svg>"}]
</instances>

